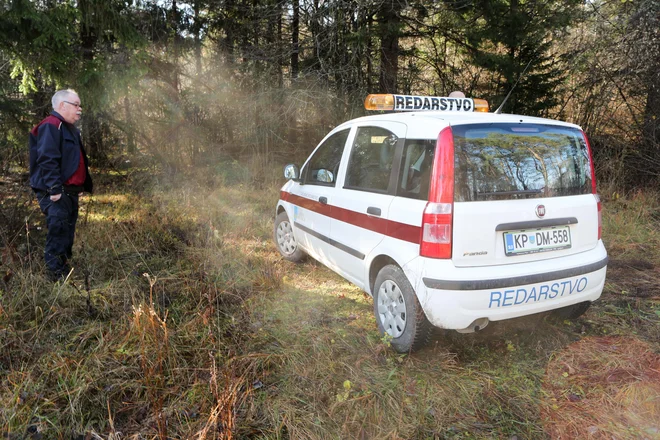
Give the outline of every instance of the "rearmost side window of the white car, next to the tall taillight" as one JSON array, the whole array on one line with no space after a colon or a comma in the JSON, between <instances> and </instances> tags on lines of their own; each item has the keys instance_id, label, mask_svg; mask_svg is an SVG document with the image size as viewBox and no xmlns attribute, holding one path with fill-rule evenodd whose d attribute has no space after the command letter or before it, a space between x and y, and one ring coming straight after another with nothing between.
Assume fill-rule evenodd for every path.
<instances>
[{"instance_id":1,"label":"rearmost side window of the white car, next to the tall taillight","mask_svg":"<svg viewBox=\"0 0 660 440\"><path fill-rule=\"evenodd\" d=\"M401 179L397 195L427 200L435 154L435 139L409 139L403 148Z\"/></svg>"}]
</instances>

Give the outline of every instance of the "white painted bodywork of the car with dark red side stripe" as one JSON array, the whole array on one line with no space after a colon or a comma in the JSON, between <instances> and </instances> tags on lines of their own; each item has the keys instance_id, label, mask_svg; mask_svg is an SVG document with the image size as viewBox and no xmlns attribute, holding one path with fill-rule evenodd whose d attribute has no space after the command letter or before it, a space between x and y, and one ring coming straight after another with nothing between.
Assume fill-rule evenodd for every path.
<instances>
[{"instance_id":1,"label":"white painted bodywork of the car with dark red side stripe","mask_svg":"<svg viewBox=\"0 0 660 440\"><path fill-rule=\"evenodd\" d=\"M411 112L357 118L324 138L351 129L335 186L289 181L282 187L277 210L287 212L294 235L307 253L369 294L374 261L387 257L400 266L426 317L437 327L466 329L482 318L498 321L598 299L605 282L607 252L598 238L594 194L455 202L452 258L435 259L420 256L426 200L344 187L359 126L380 126L408 140L428 140L437 139L447 126L486 122L579 129L560 121L492 113ZM309 209L292 202L291 195L309 200ZM320 197L327 199L330 209L335 208L329 216L318 211L326 209L318 205ZM544 221L575 220L568 225L571 247L507 256L502 225L535 224L541 204L546 210ZM369 207L380 209L380 215L369 215Z\"/></svg>"}]
</instances>

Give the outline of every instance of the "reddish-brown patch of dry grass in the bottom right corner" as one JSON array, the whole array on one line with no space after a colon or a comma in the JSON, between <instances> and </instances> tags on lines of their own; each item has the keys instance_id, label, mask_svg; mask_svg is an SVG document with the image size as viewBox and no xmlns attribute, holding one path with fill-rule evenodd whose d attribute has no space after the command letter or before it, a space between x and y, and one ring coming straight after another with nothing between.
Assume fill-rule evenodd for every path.
<instances>
[{"instance_id":1,"label":"reddish-brown patch of dry grass in the bottom right corner","mask_svg":"<svg viewBox=\"0 0 660 440\"><path fill-rule=\"evenodd\" d=\"M639 339L570 345L548 364L544 391L552 438L660 438L660 355Z\"/></svg>"}]
</instances>

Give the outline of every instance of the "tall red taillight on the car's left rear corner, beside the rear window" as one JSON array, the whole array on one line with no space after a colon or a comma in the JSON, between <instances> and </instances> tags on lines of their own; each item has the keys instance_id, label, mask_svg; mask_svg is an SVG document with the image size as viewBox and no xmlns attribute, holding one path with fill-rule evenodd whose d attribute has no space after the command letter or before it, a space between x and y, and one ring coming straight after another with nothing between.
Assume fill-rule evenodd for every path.
<instances>
[{"instance_id":1,"label":"tall red taillight on the car's left rear corner, beside the rear window","mask_svg":"<svg viewBox=\"0 0 660 440\"><path fill-rule=\"evenodd\" d=\"M454 134L447 127L438 135L435 147L429 202L422 217L421 256L451 258L453 212Z\"/></svg>"}]
</instances>

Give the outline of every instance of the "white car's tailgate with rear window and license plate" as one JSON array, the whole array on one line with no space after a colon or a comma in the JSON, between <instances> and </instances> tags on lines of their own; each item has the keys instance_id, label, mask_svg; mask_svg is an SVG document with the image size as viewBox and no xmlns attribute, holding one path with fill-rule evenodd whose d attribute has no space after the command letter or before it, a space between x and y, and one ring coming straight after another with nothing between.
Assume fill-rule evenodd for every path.
<instances>
[{"instance_id":1,"label":"white car's tailgate with rear window and license plate","mask_svg":"<svg viewBox=\"0 0 660 440\"><path fill-rule=\"evenodd\" d=\"M598 200L580 130L519 123L452 130L456 266L539 261L597 245Z\"/></svg>"}]
</instances>

